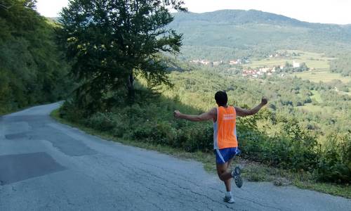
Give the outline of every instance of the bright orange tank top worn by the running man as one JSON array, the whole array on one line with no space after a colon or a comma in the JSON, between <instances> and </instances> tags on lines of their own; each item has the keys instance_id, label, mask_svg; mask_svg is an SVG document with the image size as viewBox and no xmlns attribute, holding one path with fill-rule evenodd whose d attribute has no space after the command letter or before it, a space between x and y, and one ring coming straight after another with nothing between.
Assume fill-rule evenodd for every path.
<instances>
[{"instance_id":1,"label":"bright orange tank top worn by the running man","mask_svg":"<svg viewBox=\"0 0 351 211\"><path fill-rule=\"evenodd\" d=\"M213 122L213 148L237 147L237 113L233 106L217 108L217 121Z\"/></svg>"}]
</instances>

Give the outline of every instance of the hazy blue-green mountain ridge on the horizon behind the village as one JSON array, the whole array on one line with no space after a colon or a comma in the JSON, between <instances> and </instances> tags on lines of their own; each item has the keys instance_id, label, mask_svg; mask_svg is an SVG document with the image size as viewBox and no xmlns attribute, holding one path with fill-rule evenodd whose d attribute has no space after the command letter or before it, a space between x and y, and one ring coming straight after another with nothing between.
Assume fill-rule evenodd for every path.
<instances>
[{"instance_id":1,"label":"hazy blue-green mountain ridge on the horizon behind the village","mask_svg":"<svg viewBox=\"0 0 351 211\"><path fill-rule=\"evenodd\" d=\"M351 49L351 25L307 23L255 10L173 15L170 27L184 34L183 53L189 58L260 56L280 49L336 56Z\"/></svg>"}]
</instances>

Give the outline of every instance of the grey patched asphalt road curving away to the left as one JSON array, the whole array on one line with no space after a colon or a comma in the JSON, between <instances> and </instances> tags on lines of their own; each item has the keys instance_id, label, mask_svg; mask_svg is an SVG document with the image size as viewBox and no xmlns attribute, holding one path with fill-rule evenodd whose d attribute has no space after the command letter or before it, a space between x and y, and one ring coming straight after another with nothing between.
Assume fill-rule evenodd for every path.
<instances>
[{"instance_id":1,"label":"grey patched asphalt road curving away to the left","mask_svg":"<svg viewBox=\"0 0 351 211\"><path fill-rule=\"evenodd\" d=\"M0 117L0 210L351 210L293 186L224 186L199 162L105 141L48 116L58 103Z\"/></svg>"}]
</instances>

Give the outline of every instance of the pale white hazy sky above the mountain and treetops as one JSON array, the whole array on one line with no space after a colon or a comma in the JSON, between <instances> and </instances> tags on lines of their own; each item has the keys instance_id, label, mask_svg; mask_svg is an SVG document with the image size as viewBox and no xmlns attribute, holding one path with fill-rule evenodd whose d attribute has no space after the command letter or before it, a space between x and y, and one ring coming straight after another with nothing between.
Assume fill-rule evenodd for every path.
<instances>
[{"instance_id":1,"label":"pale white hazy sky above the mountain and treetops","mask_svg":"<svg viewBox=\"0 0 351 211\"><path fill-rule=\"evenodd\" d=\"M256 9L314 23L351 24L351 0L184 0L189 11L204 13L221 9ZM68 0L37 0L47 17L58 16Z\"/></svg>"}]
</instances>

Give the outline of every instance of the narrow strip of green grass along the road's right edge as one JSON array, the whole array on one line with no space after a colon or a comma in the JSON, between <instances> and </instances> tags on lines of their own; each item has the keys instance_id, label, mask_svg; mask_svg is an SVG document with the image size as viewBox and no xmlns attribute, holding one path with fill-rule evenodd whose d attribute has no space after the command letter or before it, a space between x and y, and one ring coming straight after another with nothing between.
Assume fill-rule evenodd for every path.
<instances>
[{"instance_id":1,"label":"narrow strip of green grass along the road's right edge","mask_svg":"<svg viewBox=\"0 0 351 211\"><path fill-rule=\"evenodd\" d=\"M206 171L211 172L212 174L216 174L216 164L213 153L204 153L201 151L188 153L181 148L153 145L151 143L144 143L135 140L117 139L107 132L100 132L95 129L85 127L82 124L69 122L65 119L60 118L59 109L53 110L51 117L62 124L68 124L69 126L77 127L88 134L99 136L102 139L117 141L128 146L135 146L152 151L159 151L167 155L172 155L176 158L197 160L198 162L203 163L204 169ZM334 196L351 198L351 186L317 183L312 178L312 175L308 174L307 172L290 172L287 170L268 167L267 165L263 165L258 162L251 162L242 158L236 158L236 160L234 160L234 164L243 167L242 176L248 181L271 181L276 186L286 186L293 184L299 188L306 188L323 193L329 193Z\"/></svg>"}]
</instances>

